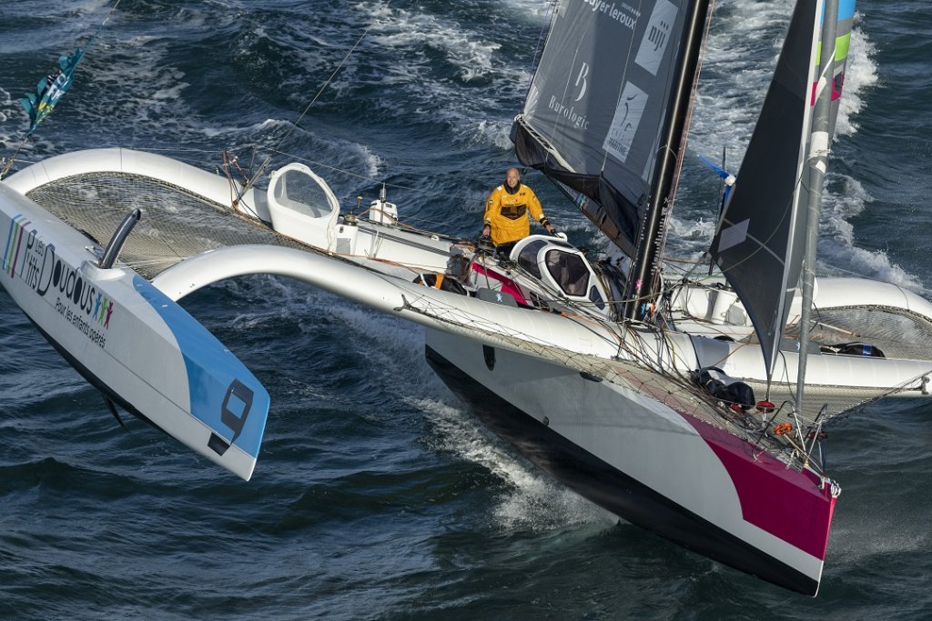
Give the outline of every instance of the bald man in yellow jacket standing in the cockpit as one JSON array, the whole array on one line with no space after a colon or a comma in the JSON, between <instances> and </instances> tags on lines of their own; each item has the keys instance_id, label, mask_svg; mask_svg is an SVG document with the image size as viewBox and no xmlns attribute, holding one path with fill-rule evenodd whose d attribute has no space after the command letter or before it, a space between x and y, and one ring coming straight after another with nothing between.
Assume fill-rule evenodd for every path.
<instances>
[{"instance_id":1,"label":"bald man in yellow jacket standing in the cockpit","mask_svg":"<svg viewBox=\"0 0 932 621\"><path fill-rule=\"evenodd\" d=\"M491 234L495 249L507 256L515 243L530 235L528 216L540 222L548 233L555 234L554 225L543 215L541 201L534 191L521 183L518 169L508 169L505 182L488 196L482 235Z\"/></svg>"}]
</instances>

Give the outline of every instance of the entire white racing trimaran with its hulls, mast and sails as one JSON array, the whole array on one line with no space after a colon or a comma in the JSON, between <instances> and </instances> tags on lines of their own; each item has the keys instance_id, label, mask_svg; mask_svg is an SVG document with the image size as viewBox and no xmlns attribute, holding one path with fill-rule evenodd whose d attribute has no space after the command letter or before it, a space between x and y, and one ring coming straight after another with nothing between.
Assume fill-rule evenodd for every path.
<instances>
[{"instance_id":1,"label":"entire white racing trimaran with its hulls, mast and sails","mask_svg":"<svg viewBox=\"0 0 932 621\"><path fill-rule=\"evenodd\" d=\"M854 0L796 3L712 243L719 271L665 262L708 13L709 0L562 0L515 118L520 161L624 256L535 235L500 257L404 225L384 195L341 214L303 164L259 190L227 162L223 176L112 148L0 183L0 282L111 406L244 479L269 396L179 299L269 273L409 319L445 384L555 479L815 595L840 493L823 425L927 396L932 305L813 277Z\"/></svg>"}]
</instances>

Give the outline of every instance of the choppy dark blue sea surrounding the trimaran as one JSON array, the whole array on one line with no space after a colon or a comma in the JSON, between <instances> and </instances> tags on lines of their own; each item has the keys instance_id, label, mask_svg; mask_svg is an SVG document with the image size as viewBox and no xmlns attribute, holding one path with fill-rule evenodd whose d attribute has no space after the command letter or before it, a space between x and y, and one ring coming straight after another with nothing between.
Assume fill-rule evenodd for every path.
<instances>
[{"instance_id":1,"label":"choppy dark blue sea surrounding the trimaran","mask_svg":"<svg viewBox=\"0 0 932 621\"><path fill-rule=\"evenodd\" d=\"M3 155L27 126L16 99L110 6L0 6ZM717 7L695 152L718 158L727 147L736 168L789 7ZM405 220L474 236L488 190L514 163L508 129L548 14L542 0L122 0L20 156L123 145L213 168L220 149L261 144L288 154L279 165L320 163L346 207L387 181ZM824 272L926 294L929 32L921 0L861 3L819 249ZM601 243L547 182L526 181L573 241ZM701 165L687 165L674 250L707 243L717 191ZM541 476L432 375L418 328L272 277L221 283L185 307L272 396L248 483L138 421L123 431L0 292L0 618L932 610L932 407L879 403L829 430L843 494L811 600L618 523Z\"/></svg>"}]
</instances>

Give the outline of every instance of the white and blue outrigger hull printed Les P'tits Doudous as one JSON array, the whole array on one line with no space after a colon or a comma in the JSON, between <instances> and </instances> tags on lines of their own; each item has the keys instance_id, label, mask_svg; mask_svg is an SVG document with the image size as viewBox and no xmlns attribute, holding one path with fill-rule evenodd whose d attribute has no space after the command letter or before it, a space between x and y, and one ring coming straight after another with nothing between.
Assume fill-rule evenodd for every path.
<instances>
[{"instance_id":1,"label":"white and blue outrigger hull printed Les P'tits Doudous","mask_svg":"<svg viewBox=\"0 0 932 621\"><path fill-rule=\"evenodd\" d=\"M243 479L266 425L265 388L196 319L90 240L0 184L0 284L104 397ZM116 413L116 412L115 412Z\"/></svg>"}]
</instances>

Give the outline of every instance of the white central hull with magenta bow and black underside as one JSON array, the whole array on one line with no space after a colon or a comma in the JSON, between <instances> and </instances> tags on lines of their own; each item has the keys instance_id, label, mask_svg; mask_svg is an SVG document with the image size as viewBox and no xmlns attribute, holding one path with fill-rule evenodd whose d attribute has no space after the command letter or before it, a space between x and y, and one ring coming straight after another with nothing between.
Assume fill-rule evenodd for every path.
<instances>
[{"instance_id":1,"label":"white central hull with magenta bow and black underside","mask_svg":"<svg viewBox=\"0 0 932 621\"><path fill-rule=\"evenodd\" d=\"M835 493L712 425L624 386L428 330L426 356L500 438L624 520L815 595Z\"/></svg>"}]
</instances>

